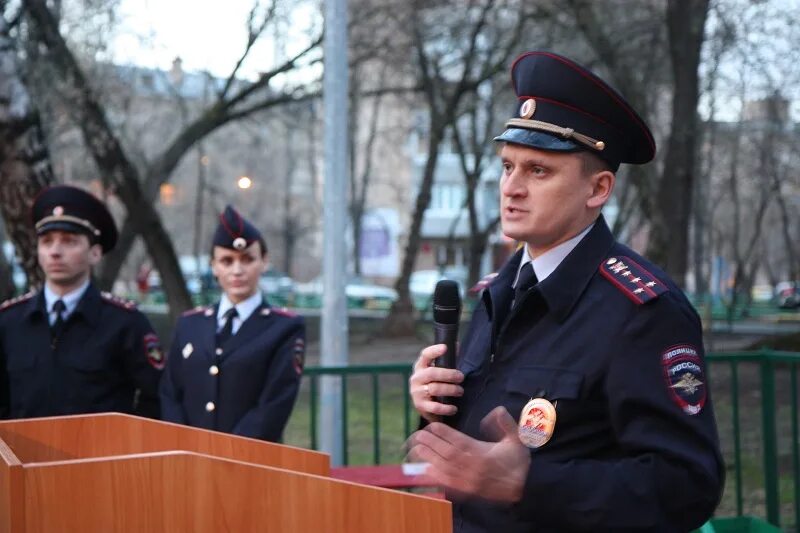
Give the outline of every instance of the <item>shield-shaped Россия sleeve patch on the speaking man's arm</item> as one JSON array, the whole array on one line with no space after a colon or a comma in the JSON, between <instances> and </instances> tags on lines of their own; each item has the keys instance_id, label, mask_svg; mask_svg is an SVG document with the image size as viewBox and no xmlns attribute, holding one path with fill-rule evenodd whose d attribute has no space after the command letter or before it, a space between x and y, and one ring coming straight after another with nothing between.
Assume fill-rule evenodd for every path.
<instances>
[{"instance_id":1,"label":"shield-shaped \u0420\u043e\u0441\u0441\u0438\u044f sleeve patch on the speaking man's arm","mask_svg":"<svg viewBox=\"0 0 800 533\"><path fill-rule=\"evenodd\" d=\"M661 354L670 397L687 415L696 415L706 403L706 378L697 348L680 344Z\"/></svg>"}]
</instances>

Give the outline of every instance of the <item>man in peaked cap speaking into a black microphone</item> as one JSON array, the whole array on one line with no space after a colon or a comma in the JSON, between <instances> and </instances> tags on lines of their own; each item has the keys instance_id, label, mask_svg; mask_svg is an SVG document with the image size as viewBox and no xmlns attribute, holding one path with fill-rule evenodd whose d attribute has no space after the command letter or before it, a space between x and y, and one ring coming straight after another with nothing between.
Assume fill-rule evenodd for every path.
<instances>
[{"instance_id":1,"label":"man in peaked cap speaking into a black microphone","mask_svg":"<svg viewBox=\"0 0 800 533\"><path fill-rule=\"evenodd\" d=\"M700 321L600 214L653 137L567 58L523 54L512 81L501 221L525 247L484 290L458 369L432 366L442 345L421 352L411 395L430 424L410 456L456 500L456 531L699 527L723 486Z\"/></svg>"}]
</instances>

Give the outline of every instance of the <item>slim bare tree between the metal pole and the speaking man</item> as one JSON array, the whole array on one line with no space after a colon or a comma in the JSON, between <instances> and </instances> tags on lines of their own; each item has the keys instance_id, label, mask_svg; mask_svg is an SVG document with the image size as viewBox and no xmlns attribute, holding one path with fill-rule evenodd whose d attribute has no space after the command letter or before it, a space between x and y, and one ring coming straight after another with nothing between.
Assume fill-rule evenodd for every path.
<instances>
[{"instance_id":1,"label":"slim bare tree between the metal pole and the speaking man","mask_svg":"<svg viewBox=\"0 0 800 533\"><path fill-rule=\"evenodd\" d=\"M427 159L395 283L398 299L385 322L387 333L400 335L414 331L408 282L421 244L420 229L430 204L445 133L458 117L462 101L485 80L505 72L530 16L526 3L516 1L471 0L466 6L463 2L437 2L433 7L414 1L408 7L403 20L410 28L416 75L427 108L428 138Z\"/></svg>"}]
</instances>

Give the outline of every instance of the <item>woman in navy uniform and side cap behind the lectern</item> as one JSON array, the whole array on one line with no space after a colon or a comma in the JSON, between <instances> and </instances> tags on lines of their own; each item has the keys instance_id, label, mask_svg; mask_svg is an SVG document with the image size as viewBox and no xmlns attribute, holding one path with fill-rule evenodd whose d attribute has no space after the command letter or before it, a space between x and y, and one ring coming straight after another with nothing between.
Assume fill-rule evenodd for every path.
<instances>
[{"instance_id":1,"label":"woman in navy uniform and side cap behind the lectern","mask_svg":"<svg viewBox=\"0 0 800 533\"><path fill-rule=\"evenodd\" d=\"M264 300L266 268L261 233L228 206L211 250L222 298L178 320L161 382L164 420L281 440L300 385L305 323Z\"/></svg>"}]
</instances>

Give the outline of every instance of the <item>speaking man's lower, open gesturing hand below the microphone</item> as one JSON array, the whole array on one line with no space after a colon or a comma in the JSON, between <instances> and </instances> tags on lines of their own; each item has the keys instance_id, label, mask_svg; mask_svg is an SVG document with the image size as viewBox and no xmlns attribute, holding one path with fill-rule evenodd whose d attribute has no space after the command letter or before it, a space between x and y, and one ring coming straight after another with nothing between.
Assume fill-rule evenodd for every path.
<instances>
[{"instance_id":1,"label":"speaking man's lower, open gesturing hand below the microphone","mask_svg":"<svg viewBox=\"0 0 800 533\"><path fill-rule=\"evenodd\" d=\"M516 503L522 499L531 457L504 407L481 422L493 441L473 439L434 422L409 438L409 457L429 466L425 477L457 498Z\"/></svg>"}]
</instances>

